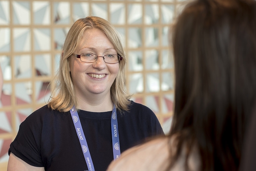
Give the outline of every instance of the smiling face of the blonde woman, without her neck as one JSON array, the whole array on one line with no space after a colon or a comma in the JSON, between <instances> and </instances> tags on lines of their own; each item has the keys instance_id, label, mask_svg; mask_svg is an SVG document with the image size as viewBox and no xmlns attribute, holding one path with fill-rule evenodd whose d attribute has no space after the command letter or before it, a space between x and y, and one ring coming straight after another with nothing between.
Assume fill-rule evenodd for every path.
<instances>
[{"instance_id":1,"label":"smiling face of the blonde woman, without her neck","mask_svg":"<svg viewBox=\"0 0 256 171\"><path fill-rule=\"evenodd\" d=\"M85 30L78 46L77 54L91 53L97 56L117 54L113 44L99 29ZM82 62L75 56L71 57L70 71L76 95L80 98L88 95L110 95L110 88L119 70L119 63L105 63L102 57L95 62Z\"/></svg>"}]
</instances>

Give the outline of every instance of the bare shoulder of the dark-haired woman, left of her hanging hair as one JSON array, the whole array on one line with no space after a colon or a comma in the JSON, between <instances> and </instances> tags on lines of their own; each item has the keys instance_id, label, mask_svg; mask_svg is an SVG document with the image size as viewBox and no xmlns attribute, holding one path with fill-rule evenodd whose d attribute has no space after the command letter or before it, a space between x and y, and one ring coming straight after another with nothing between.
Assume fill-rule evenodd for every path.
<instances>
[{"instance_id":1,"label":"bare shoulder of the dark-haired woman, left of her hanging hair","mask_svg":"<svg viewBox=\"0 0 256 171\"><path fill-rule=\"evenodd\" d=\"M113 161L108 171L159 170L159 166L164 168L168 163L168 142L167 137L159 137L132 147L124 151L118 160Z\"/></svg>"}]
</instances>

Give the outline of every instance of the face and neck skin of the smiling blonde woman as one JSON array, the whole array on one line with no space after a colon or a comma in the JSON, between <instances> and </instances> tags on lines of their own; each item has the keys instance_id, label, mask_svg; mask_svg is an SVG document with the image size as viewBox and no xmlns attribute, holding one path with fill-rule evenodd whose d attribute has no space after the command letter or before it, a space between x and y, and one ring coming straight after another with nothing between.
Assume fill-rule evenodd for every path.
<instances>
[{"instance_id":1,"label":"face and neck skin of the smiling blonde woman","mask_svg":"<svg viewBox=\"0 0 256 171\"><path fill-rule=\"evenodd\" d=\"M89 29L83 34L77 54L92 53L98 56L117 54L113 44L99 29ZM119 64L107 64L102 57L93 63L82 62L73 56L70 61L70 71L75 92L79 101L79 109L101 112L111 111L113 102L110 87L119 70ZM95 78L91 75L105 75ZM95 108L97 106L97 108ZM92 107L92 108L91 108Z\"/></svg>"}]
</instances>

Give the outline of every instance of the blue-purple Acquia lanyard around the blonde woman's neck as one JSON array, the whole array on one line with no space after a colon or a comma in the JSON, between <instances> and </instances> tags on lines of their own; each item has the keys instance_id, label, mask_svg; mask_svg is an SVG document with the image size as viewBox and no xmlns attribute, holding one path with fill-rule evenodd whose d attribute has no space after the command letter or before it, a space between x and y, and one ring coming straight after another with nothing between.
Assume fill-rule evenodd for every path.
<instances>
[{"instance_id":1,"label":"blue-purple Acquia lanyard around the blonde woman's neck","mask_svg":"<svg viewBox=\"0 0 256 171\"><path fill-rule=\"evenodd\" d=\"M85 134L77 113L75 106L73 106L70 110L71 117L73 118L73 123L75 125L77 131L77 137L79 138L81 148L83 150L83 154L85 157L85 161L87 163L87 167L89 170L94 171L93 161L91 159L91 154L89 151L89 147L87 145L87 141L85 138ZM119 148L119 133L118 133L118 125L117 125L117 109L113 107L112 114L111 114L111 132L112 132L112 145L113 145L113 155L114 160L118 159L121 155L120 148Z\"/></svg>"}]
</instances>

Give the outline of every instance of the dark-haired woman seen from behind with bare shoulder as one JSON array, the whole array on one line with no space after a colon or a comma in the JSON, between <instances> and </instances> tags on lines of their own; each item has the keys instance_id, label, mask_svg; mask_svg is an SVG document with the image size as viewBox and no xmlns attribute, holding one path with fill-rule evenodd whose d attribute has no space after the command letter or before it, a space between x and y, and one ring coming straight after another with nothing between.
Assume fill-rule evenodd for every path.
<instances>
[{"instance_id":1,"label":"dark-haired woman seen from behind with bare shoulder","mask_svg":"<svg viewBox=\"0 0 256 171\"><path fill-rule=\"evenodd\" d=\"M256 99L256 1L195 0L173 32L175 108L168 136L109 171L237 171Z\"/></svg>"}]
</instances>

